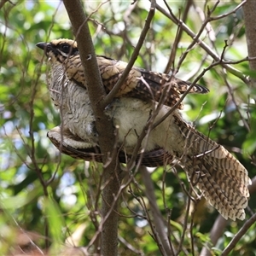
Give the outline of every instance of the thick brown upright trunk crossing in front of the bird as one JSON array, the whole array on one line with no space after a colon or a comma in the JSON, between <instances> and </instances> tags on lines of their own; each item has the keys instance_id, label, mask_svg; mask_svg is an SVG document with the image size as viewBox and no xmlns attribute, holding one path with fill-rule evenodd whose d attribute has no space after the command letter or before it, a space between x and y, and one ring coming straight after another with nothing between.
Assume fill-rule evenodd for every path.
<instances>
[{"instance_id":1,"label":"thick brown upright trunk crossing in front of the bird","mask_svg":"<svg viewBox=\"0 0 256 256\"><path fill-rule=\"evenodd\" d=\"M102 85L102 78L96 61L94 45L90 37L90 30L87 24L87 17L84 14L82 3L79 0L63 0L67 9L67 14L73 26L73 33L79 44L79 53L84 67L84 74L87 82L87 89L90 96L91 108L96 117L96 131L99 134L99 145L102 151L103 163L107 162L108 153L113 155L112 160L108 160L108 165L104 165L102 190L102 247L97 249L97 253L104 256L117 255L118 246L118 201L115 195L118 194L120 179L119 165L116 165L117 152L114 150L115 137L113 135L112 121L104 114L102 98L106 92ZM113 201L115 205L111 208ZM110 212L111 211L111 212ZM105 217L107 217L105 219Z\"/></svg>"}]
</instances>

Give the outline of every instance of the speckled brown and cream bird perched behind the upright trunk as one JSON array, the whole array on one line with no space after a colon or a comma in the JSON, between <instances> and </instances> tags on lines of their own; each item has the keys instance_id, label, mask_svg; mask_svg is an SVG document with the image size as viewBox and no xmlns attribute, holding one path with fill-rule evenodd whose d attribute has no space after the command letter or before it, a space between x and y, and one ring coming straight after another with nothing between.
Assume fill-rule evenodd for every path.
<instances>
[{"instance_id":1,"label":"speckled brown and cream bird perched behind the upright trunk","mask_svg":"<svg viewBox=\"0 0 256 256\"><path fill-rule=\"evenodd\" d=\"M44 49L48 57L49 95L55 107L60 109L62 127L73 137L79 137L83 148L98 148L96 118L78 44L72 39L60 38L37 46ZM97 55L96 60L108 93L127 63L102 55ZM180 112L183 104L179 99L187 90L199 94L208 92L200 84L191 84L173 75L132 67L113 101L105 108L105 114L117 131L118 146L125 154L132 154L138 136L154 115L154 124L158 121L160 124L148 131L141 148L146 153L163 148L188 173L189 182L201 190L224 218L243 220L249 197L247 185L251 183L248 172L228 150L183 119ZM175 109L166 117L172 108ZM70 142L71 148L79 149L77 143Z\"/></svg>"}]
</instances>

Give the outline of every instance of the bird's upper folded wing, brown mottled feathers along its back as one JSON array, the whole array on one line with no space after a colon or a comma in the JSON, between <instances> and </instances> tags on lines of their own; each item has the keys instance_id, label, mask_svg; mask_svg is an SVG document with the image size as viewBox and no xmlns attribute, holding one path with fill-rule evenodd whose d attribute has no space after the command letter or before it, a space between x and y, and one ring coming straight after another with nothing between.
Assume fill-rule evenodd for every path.
<instances>
[{"instance_id":1,"label":"bird's upper folded wing, brown mottled feathers along its back","mask_svg":"<svg viewBox=\"0 0 256 256\"><path fill-rule=\"evenodd\" d=\"M109 92L122 76L127 63L124 61L116 61L105 56L97 56L97 62L105 90ZM73 79L77 83L86 86L80 56L71 56L67 59L65 65L68 79ZM154 100L155 102L160 102L163 96L164 104L172 107L179 100L180 94L188 90L190 85L190 82L185 82L165 73L156 73L143 68L133 67L116 96L131 96L145 101ZM189 93L207 92L207 88L199 84L195 84L191 90L189 90ZM182 104L180 104L178 108L182 108Z\"/></svg>"}]
</instances>

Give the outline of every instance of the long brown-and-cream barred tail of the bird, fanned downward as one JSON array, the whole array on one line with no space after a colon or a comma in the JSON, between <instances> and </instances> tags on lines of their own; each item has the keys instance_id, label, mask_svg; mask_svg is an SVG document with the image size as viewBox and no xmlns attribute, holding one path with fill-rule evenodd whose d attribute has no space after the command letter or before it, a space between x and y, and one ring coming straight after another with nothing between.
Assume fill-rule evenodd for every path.
<instances>
[{"instance_id":1,"label":"long brown-and-cream barred tail of the bird, fanned downward","mask_svg":"<svg viewBox=\"0 0 256 256\"><path fill-rule=\"evenodd\" d=\"M183 154L177 155L192 183L224 218L244 219L251 183L247 170L224 147L195 131L174 116L178 131L185 138Z\"/></svg>"}]
</instances>

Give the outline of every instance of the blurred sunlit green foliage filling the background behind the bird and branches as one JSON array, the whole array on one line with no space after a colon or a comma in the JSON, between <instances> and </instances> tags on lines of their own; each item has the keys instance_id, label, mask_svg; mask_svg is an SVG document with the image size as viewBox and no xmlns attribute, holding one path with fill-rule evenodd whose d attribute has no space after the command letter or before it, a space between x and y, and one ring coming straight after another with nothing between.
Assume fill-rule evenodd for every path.
<instances>
[{"instance_id":1,"label":"blurred sunlit green foliage filling the background behind the bird and branches","mask_svg":"<svg viewBox=\"0 0 256 256\"><path fill-rule=\"evenodd\" d=\"M87 13L91 14L89 25L96 53L129 61L149 4L145 1L134 4L114 1L85 3ZM170 8L177 17L183 16L186 4L186 1L173 2ZM236 1L219 3L212 16L229 13L237 4ZM207 15L207 6L212 9L213 5L208 1L195 2L185 23L198 32L202 15ZM166 6L165 9L168 12ZM35 47L38 42L53 38L73 38L65 9L61 2L8 2L1 9L0 22L0 233L2 230L4 233L1 234L0 252L5 254L10 250L15 253L14 237L20 234L20 229L42 235L37 236L37 250L50 246L53 253L55 248L67 244L72 238L75 246L88 245L99 224L98 184L102 166L60 155L49 143L46 133L60 124L60 118L49 99L45 60ZM164 72L177 31L177 25L156 11L137 58L137 66ZM236 14L208 23L201 39L218 55L224 54L225 59L239 62L247 55L241 9ZM191 81L212 64L209 54L195 44L180 65L179 61L192 41L183 32L175 61L168 70L178 71L177 77ZM241 73L249 69L247 61L240 61L234 67ZM250 177L254 177L256 171L252 162L255 166L256 134L255 129L248 132L247 125L253 128L256 122L255 103L252 101L256 96L255 89L221 65L210 68L199 83L211 92L206 96L186 97L184 118L236 154L247 167ZM217 212L206 204L199 204L187 219L188 202L192 202L181 183L189 191L188 179L178 167L175 173L166 166L152 171L151 177L157 206L171 229L173 247L180 247L182 255L189 255L201 251L205 245L211 247L207 242ZM154 228L146 220L146 217L152 219L152 213L145 190L142 174L138 172L122 193L120 255L160 254L152 237ZM255 202L250 201L250 207L255 209ZM242 222L230 222L212 252L218 255L241 226ZM79 230L81 234L75 239ZM234 254L252 255L256 252L254 230L255 227L251 227L239 241Z\"/></svg>"}]
</instances>

